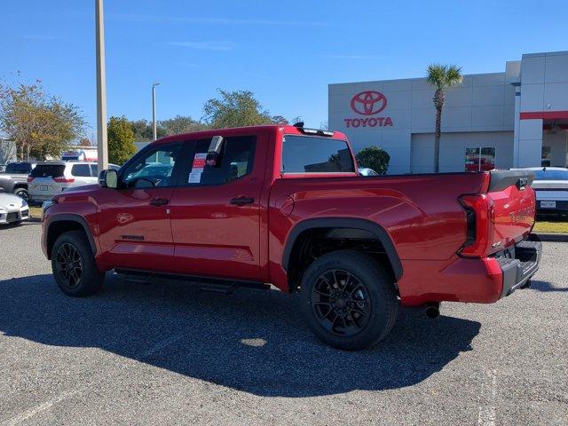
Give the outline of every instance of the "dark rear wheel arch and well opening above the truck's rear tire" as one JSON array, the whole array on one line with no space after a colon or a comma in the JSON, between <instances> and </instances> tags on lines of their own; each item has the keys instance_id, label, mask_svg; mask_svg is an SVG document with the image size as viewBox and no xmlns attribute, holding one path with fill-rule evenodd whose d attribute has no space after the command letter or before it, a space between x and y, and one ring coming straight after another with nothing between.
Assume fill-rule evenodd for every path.
<instances>
[{"instance_id":1,"label":"dark rear wheel arch and well opening above the truck's rear tire","mask_svg":"<svg viewBox=\"0 0 568 426\"><path fill-rule=\"evenodd\" d=\"M394 280L398 280L402 276L402 264L394 243L390 239L390 235L384 230L383 226L375 224L366 219L349 218L349 217L323 217L306 219L298 223L290 233L284 247L282 255L282 267L288 273L288 283L293 291L294 287L301 280L300 276L295 276L296 263L300 253L304 252L304 245L310 244L309 240L312 235L323 235L325 238L331 238L340 241L364 241L366 238L378 243L386 255L383 263L387 269L390 269ZM337 247L336 249L343 249ZM304 265L304 269L307 265Z\"/></svg>"}]
</instances>

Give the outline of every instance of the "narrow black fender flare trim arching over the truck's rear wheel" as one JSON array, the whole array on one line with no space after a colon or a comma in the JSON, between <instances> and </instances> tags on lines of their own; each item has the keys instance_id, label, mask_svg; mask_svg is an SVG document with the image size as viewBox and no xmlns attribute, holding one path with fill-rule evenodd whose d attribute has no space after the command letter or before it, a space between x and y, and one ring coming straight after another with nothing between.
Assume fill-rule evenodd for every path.
<instances>
[{"instance_id":1,"label":"narrow black fender flare trim arching over the truck's rear wheel","mask_svg":"<svg viewBox=\"0 0 568 426\"><path fill-rule=\"evenodd\" d=\"M394 272L396 280L399 280L400 277L402 277L402 264L400 263L400 257L394 247L394 243L390 239L389 233L384 230L383 226L375 224L375 222L371 222L367 219L350 217L320 217L305 219L296 224L294 228L292 228L292 231L288 233L288 239L284 246L284 252L282 254L282 267L284 268L284 271L288 272L288 263L292 254L292 248L294 248L297 238L304 231L314 228L352 228L374 234L375 237L383 244L383 248L389 258L390 266L392 267L392 272Z\"/></svg>"}]
</instances>

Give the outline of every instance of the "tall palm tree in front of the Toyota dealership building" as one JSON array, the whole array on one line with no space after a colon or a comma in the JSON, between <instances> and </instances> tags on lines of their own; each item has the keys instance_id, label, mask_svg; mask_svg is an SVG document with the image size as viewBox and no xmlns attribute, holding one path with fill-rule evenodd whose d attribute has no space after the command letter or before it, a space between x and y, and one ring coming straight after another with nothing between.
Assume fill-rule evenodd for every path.
<instances>
[{"instance_id":1,"label":"tall palm tree in front of the Toyota dealership building","mask_svg":"<svg viewBox=\"0 0 568 426\"><path fill-rule=\"evenodd\" d=\"M444 90L457 86L463 81L461 67L455 65L430 64L426 69L426 81L436 88L434 107L436 108L436 133L434 134L434 171L440 171L440 133L442 128L442 108L446 102Z\"/></svg>"}]
</instances>

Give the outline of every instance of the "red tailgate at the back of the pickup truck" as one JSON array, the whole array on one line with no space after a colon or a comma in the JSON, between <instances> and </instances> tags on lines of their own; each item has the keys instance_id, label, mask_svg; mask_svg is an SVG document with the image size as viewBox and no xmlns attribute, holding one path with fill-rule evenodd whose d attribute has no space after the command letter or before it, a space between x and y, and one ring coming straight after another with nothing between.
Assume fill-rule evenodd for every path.
<instances>
[{"instance_id":1,"label":"red tailgate at the back of the pickup truck","mask_svg":"<svg viewBox=\"0 0 568 426\"><path fill-rule=\"evenodd\" d=\"M493 170L487 197L493 201L490 253L525 239L533 230L536 197L530 170Z\"/></svg>"}]
</instances>

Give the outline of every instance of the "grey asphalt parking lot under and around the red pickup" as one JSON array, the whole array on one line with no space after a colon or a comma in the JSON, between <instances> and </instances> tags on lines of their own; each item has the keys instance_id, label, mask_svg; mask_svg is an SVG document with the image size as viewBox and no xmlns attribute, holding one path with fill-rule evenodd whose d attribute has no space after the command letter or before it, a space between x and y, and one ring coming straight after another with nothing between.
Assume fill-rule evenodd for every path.
<instances>
[{"instance_id":1,"label":"grey asphalt parking lot under and around the red pickup","mask_svg":"<svg viewBox=\"0 0 568 426\"><path fill-rule=\"evenodd\" d=\"M493 305L401 310L335 351L276 290L231 296L107 275L63 296L39 224L0 228L0 424L568 425L568 243Z\"/></svg>"}]
</instances>

